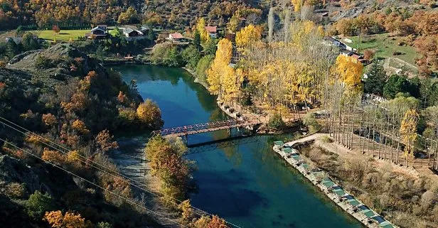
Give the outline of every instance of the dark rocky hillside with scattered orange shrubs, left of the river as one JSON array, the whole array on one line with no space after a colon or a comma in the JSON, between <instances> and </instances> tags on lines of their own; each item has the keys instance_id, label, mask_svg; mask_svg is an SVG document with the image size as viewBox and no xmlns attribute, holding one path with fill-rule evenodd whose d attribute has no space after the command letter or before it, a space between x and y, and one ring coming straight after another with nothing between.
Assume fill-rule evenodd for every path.
<instances>
[{"instance_id":1,"label":"dark rocky hillside with scattered orange shrubs, left of the river","mask_svg":"<svg viewBox=\"0 0 438 228\"><path fill-rule=\"evenodd\" d=\"M107 158L117 148L112 133L159 127L137 116L138 106L145 112L158 109L154 103L141 104L134 82L127 85L117 72L70 44L23 53L1 68L0 139L8 143L0 141L0 202L7 205L0 208L0 224L47 227L43 212L60 210L78 213L84 227L98 222L114 228L157 227L149 215L106 191L132 199L128 182L89 164L117 170ZM162 124L160 112L153 120ZM5 125L8 121L45 139L16 131Z\"/></svg>"}]
</instances>

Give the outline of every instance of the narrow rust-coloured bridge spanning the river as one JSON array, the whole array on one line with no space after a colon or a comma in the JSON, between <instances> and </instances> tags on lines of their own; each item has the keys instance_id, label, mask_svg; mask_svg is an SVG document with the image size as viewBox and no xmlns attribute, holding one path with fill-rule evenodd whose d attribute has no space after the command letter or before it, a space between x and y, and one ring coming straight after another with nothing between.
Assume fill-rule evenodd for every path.
<instances>
[{"instance_id":1,"label":"narrow rust-coloured bridge spanning the river","mask_svg":"<svg viewBox=\"0 0 438 228\"><path fill-rule=\"evenodd\" d=\"M151 136L161 135L161 136L188 136L192 134L201 134L210 131L220 131L225 129L232 129L235 127L246 127L255 126L261 124L259 119L246 119L246 120L235 120L228 119L224 121L214 121L204 124L193 124L186 126L176 126L169 129L161 129L157 131L152 131Z\"/></svg>"}]
</instances>

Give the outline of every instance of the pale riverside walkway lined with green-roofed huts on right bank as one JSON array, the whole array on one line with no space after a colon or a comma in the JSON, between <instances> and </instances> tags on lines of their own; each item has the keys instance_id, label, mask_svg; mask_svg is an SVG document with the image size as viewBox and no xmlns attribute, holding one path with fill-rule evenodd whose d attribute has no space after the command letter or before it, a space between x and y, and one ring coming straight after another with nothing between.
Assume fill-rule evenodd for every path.
<instances>
[{"instance_id":1,"label":"pale riverside walkway lined with green-roofed huts on right bank","mask_svg":"<svg viewBox=\"0 0 438 228\"><path fill-rule=\"evenodd\" d=\"M313 143L316 139L326 136L326 134L314 134L303 139L283 143L282 141L274 142L274 151L279 154L289 165L292 165L306 179L324 192L338 207L341 207L349 215L369 228L392 228L395 225L378 215L377 212L370 210L369 207L356 199L340 185L335 183L328 173L319 169L309 161L304 161L299 151L292 148L299 143Z\"/></svg>"}]
</instances>

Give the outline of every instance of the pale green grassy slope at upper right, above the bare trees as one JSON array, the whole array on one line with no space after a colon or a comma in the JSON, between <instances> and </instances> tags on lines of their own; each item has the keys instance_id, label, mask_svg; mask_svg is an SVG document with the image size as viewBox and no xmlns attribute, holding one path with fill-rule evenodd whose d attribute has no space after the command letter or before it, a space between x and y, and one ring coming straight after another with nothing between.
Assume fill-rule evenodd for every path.
<instances>
[{"instance_id":1,"label":"pale green grassy slope at upper right, above the bare trees","mask_svg":"<svg viewBox=\"0 0 438 228\"><path fill-rule=\"evenodd\" d=\"M418 54L415 52L415 48L411 46L397 45L402 37L388 37L389 33L371 35L371 36L360 36L359 49L363 52L365 49L375 50L375 56L380 58L400 58L407 63L415 65L415 58ZM353 43L347 43L353 48L358 47L358 37L348 37L353 40ZM344 40L343 40L344 41ZM402 55L392 55L392 53L399 52Z\"/></svg>"}]
</instances>

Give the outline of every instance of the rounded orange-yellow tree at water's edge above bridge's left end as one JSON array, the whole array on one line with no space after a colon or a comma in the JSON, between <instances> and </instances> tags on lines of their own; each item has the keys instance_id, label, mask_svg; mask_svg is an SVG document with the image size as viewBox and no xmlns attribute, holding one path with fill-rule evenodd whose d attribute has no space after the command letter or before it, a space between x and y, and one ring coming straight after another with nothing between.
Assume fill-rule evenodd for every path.
<instances>
[{"instance_id":1,"label":"rounded orange-yellow tree at water's edge above bridge's left end","mask_svg":"<svg viewBox=\"0 0 438 228\"><path fill-rule=\"evenodd\" d=\"M144 103L137 107L137 117L141 124L149 129L159 129L163 126L164 121L161 119L161 110L151 99L146 99Z\"/></svg>"}]
</instances>

